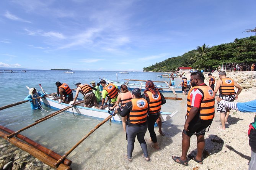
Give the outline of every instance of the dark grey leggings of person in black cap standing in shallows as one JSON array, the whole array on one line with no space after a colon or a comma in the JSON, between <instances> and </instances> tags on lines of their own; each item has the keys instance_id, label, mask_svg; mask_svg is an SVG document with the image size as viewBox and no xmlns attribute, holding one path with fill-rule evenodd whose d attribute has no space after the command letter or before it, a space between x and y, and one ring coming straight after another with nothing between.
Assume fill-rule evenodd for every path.
<instances>
[{"instance_id":1,"label":"dark grey leggings of person in black cap standing in shallows","mask_svg":"<svg viewBox=\"0 0 256 170\"><path fill-rule=\"evenodd\" d=\"M148 157L147 143L144 139L144 136L147 132L147 124L140 127L129 127L126 126L126 135L127 135L127 157L132 158L132 151L134 149L134 142L137 136L137 140L140 143L140 147L144 153L145 157Z\"/></svg>"}]
</instances>

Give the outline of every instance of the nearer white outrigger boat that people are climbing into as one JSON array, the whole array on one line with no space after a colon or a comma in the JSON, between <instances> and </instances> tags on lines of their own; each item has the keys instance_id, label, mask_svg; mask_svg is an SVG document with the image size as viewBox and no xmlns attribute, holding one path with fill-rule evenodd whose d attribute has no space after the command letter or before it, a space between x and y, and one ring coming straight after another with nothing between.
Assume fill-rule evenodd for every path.
<instances>
[{"instance_id":1,"label":"nearer white outrigger boat that people are climbing into","mask_svg":"<svg viewBox=\"0 0 256 170\"><path fill-rule=\"evenodd\" d=\"M59 103L59 97L56 95L53 95L53 96L48 96L46 98L41 98L41 103L43 103L44 106L46 106L46 107L50 107L51 109L60 110L60 109L64 109L67 106L70 106L70 104L72 104L73 102L70 102L70 104ZM106 108L106 110L99 110L99 109L95 109L95 108L83 107L83 104L74 106L73 109L70 108L67 110L67 112L83 114L86 116L91 116L91 117L95 117L95 118L99 118L99 119L106 119L106 117L109 116L108 108ZM177 112L178 112L177 110L172 113L160 112L162 122L165 122L166 120L170 119ZM122 122L122 118L119 114L116 114L114 116L114 119L112 117L111 120Z\"/></svg>"}]
</instances>

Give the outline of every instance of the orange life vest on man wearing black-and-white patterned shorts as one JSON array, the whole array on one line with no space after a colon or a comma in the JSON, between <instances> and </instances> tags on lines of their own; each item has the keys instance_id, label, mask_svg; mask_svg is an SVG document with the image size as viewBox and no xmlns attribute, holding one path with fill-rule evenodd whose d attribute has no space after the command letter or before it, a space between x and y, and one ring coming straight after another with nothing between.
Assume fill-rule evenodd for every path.
<instances>
[{"instance_id":1,"label":"orange life vest on man wearing black-and-white patterned shorts","mask_svg":"<svg viewBox=\"0 0 256 170\"><path fill-rule=\"evenodd\" d=\"M220 86L221 95L235 95L234 80L228 77L222 78L222 85Z\"/></svg>"}]
</instances>

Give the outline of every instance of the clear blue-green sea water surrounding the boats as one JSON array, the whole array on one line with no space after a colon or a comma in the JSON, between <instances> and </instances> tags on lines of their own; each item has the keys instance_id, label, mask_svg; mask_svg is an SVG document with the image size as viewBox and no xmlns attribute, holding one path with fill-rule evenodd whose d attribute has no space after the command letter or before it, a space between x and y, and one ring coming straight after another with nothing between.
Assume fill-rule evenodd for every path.
<instances>
[{"instance_id":1,"label":"clear blue-green sea water surrounding the boats","mask_svg":"<svg viewBox=\"0 0 256 170\"><path fill-rule=\"evenodd\" d=\"M119 72L106 71L73 71L73 74L65 74L64 71L34 71L29 72L15 72L15 73L1 73L0 74L0 107L7 104L23 101L28 95L28 87L35 87L41 90L38 84L41 84L44 91L53 93L57 91L55 82L67 83L71 88L75 88L73 83L90 83L94 80L99 82L99 78L106 78L109 80L118 80L119 82L126 82L124 79L140 79L140 80L158 80L168 81L168 78L160 78L157 75L160 73L154 72L129 72L129 74L120 74ZM181 82L180 79L175 79L176 85ZM166 93L164 96L173 96L171 93ZM178 97L183 97L179 94ZM184 98L184 97L183 97ZM184 112L184 108L180 106L185 104L183 101L168 100L163 105L162 111L173 112L178 109L179 112ZM0 111L0 125L10 128L11 130L19 130L27 125L33 123L35 120L44 117L54 110L44 107L48 112L37 110L32 111L29 102L13 106L8 109ZM184 111L183 111L184 110ZM22 135L28 136L32 140L54 150L60 155L65 154L73 145L75 145L84 135L86 135L92 128L94 128L101 120L92 119L83 115L73 115L69 113L62 113L46 120L38 125L29 128L22 132ZM168 120L171 123L172 120ZM164 125L163 125L164 126ZM2 140L2 139L1 139ZM114 147L113 143L120 143L119 147ZM105 123L96 132L94 132L88 139L86 139L77 149L75 149L68 159L72 160L73 169L93 168L97 169L97 157L107 157L109 154L120 155L126 154L126 140L125 133L122 130L120 123L112 123L109 126ZM140 150L140 148L139 148ZM90 165L88 164L90 162ZM120 160L121 162L122 160ZM116 162L109 165L112 168L120 168ZM99 168L101 169L101 168ZM109 169L109 168L107 168Z\"/></svg>"}]
</instances>

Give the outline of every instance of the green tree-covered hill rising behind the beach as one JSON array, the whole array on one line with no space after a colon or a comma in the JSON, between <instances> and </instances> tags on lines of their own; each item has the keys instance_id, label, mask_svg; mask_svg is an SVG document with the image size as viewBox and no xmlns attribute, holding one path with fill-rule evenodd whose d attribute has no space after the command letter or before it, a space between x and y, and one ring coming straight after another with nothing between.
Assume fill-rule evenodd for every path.
<instances>
[{"instance_id":1,"label":"green tree-covered hill rising behind the beach","mask_svg":"<svg viewBox=\"0 0 256 170\"><path fill-rule=\"evenodd\" d=\"M193 69L216 69L225 63L256 63L256 36L238 39L208 47L205 44L195 50L188 51L182 56L168 58L152 66L144 67L143 71L171 71L178 67Z\"/></svg>"}]
</instances>

